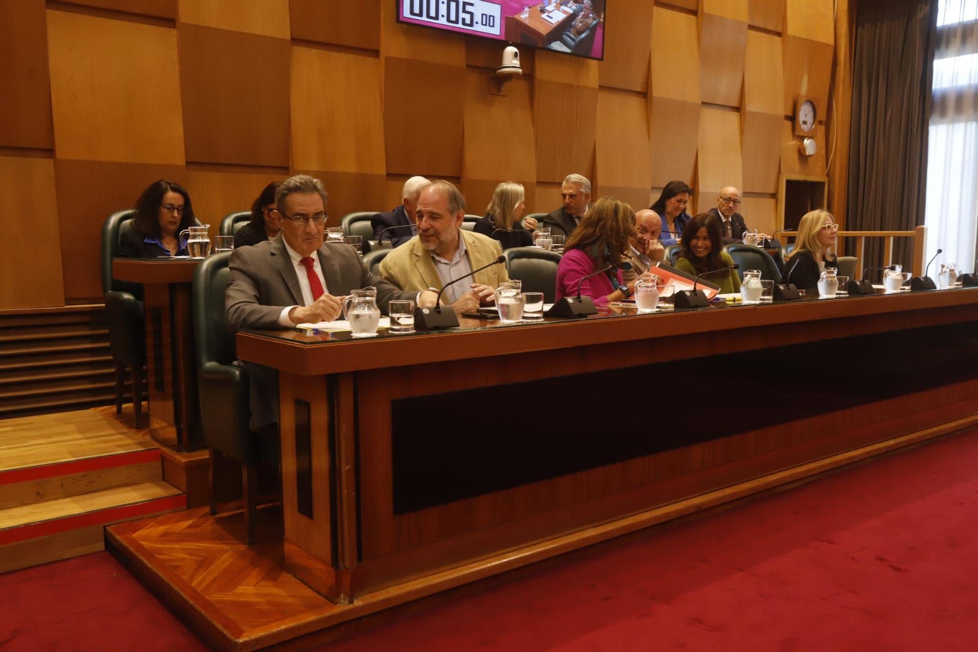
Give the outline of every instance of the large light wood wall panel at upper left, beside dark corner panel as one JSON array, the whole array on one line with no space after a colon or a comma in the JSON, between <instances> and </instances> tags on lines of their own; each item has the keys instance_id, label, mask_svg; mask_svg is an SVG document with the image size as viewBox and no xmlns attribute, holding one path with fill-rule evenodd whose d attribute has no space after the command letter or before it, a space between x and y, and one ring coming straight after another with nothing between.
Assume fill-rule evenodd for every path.
<instances>
[{"instance_id":1,"label":"large light wood wall panel at upper left, beside dark corner panel","mask_svg":"<svg viewBox=\"0 0 978 652\"><path fill-rule=\"evenodd\" d=\"M184 163L176 30L48 10L48 54L59 158Z\"/></svg>"}]
</instances>

